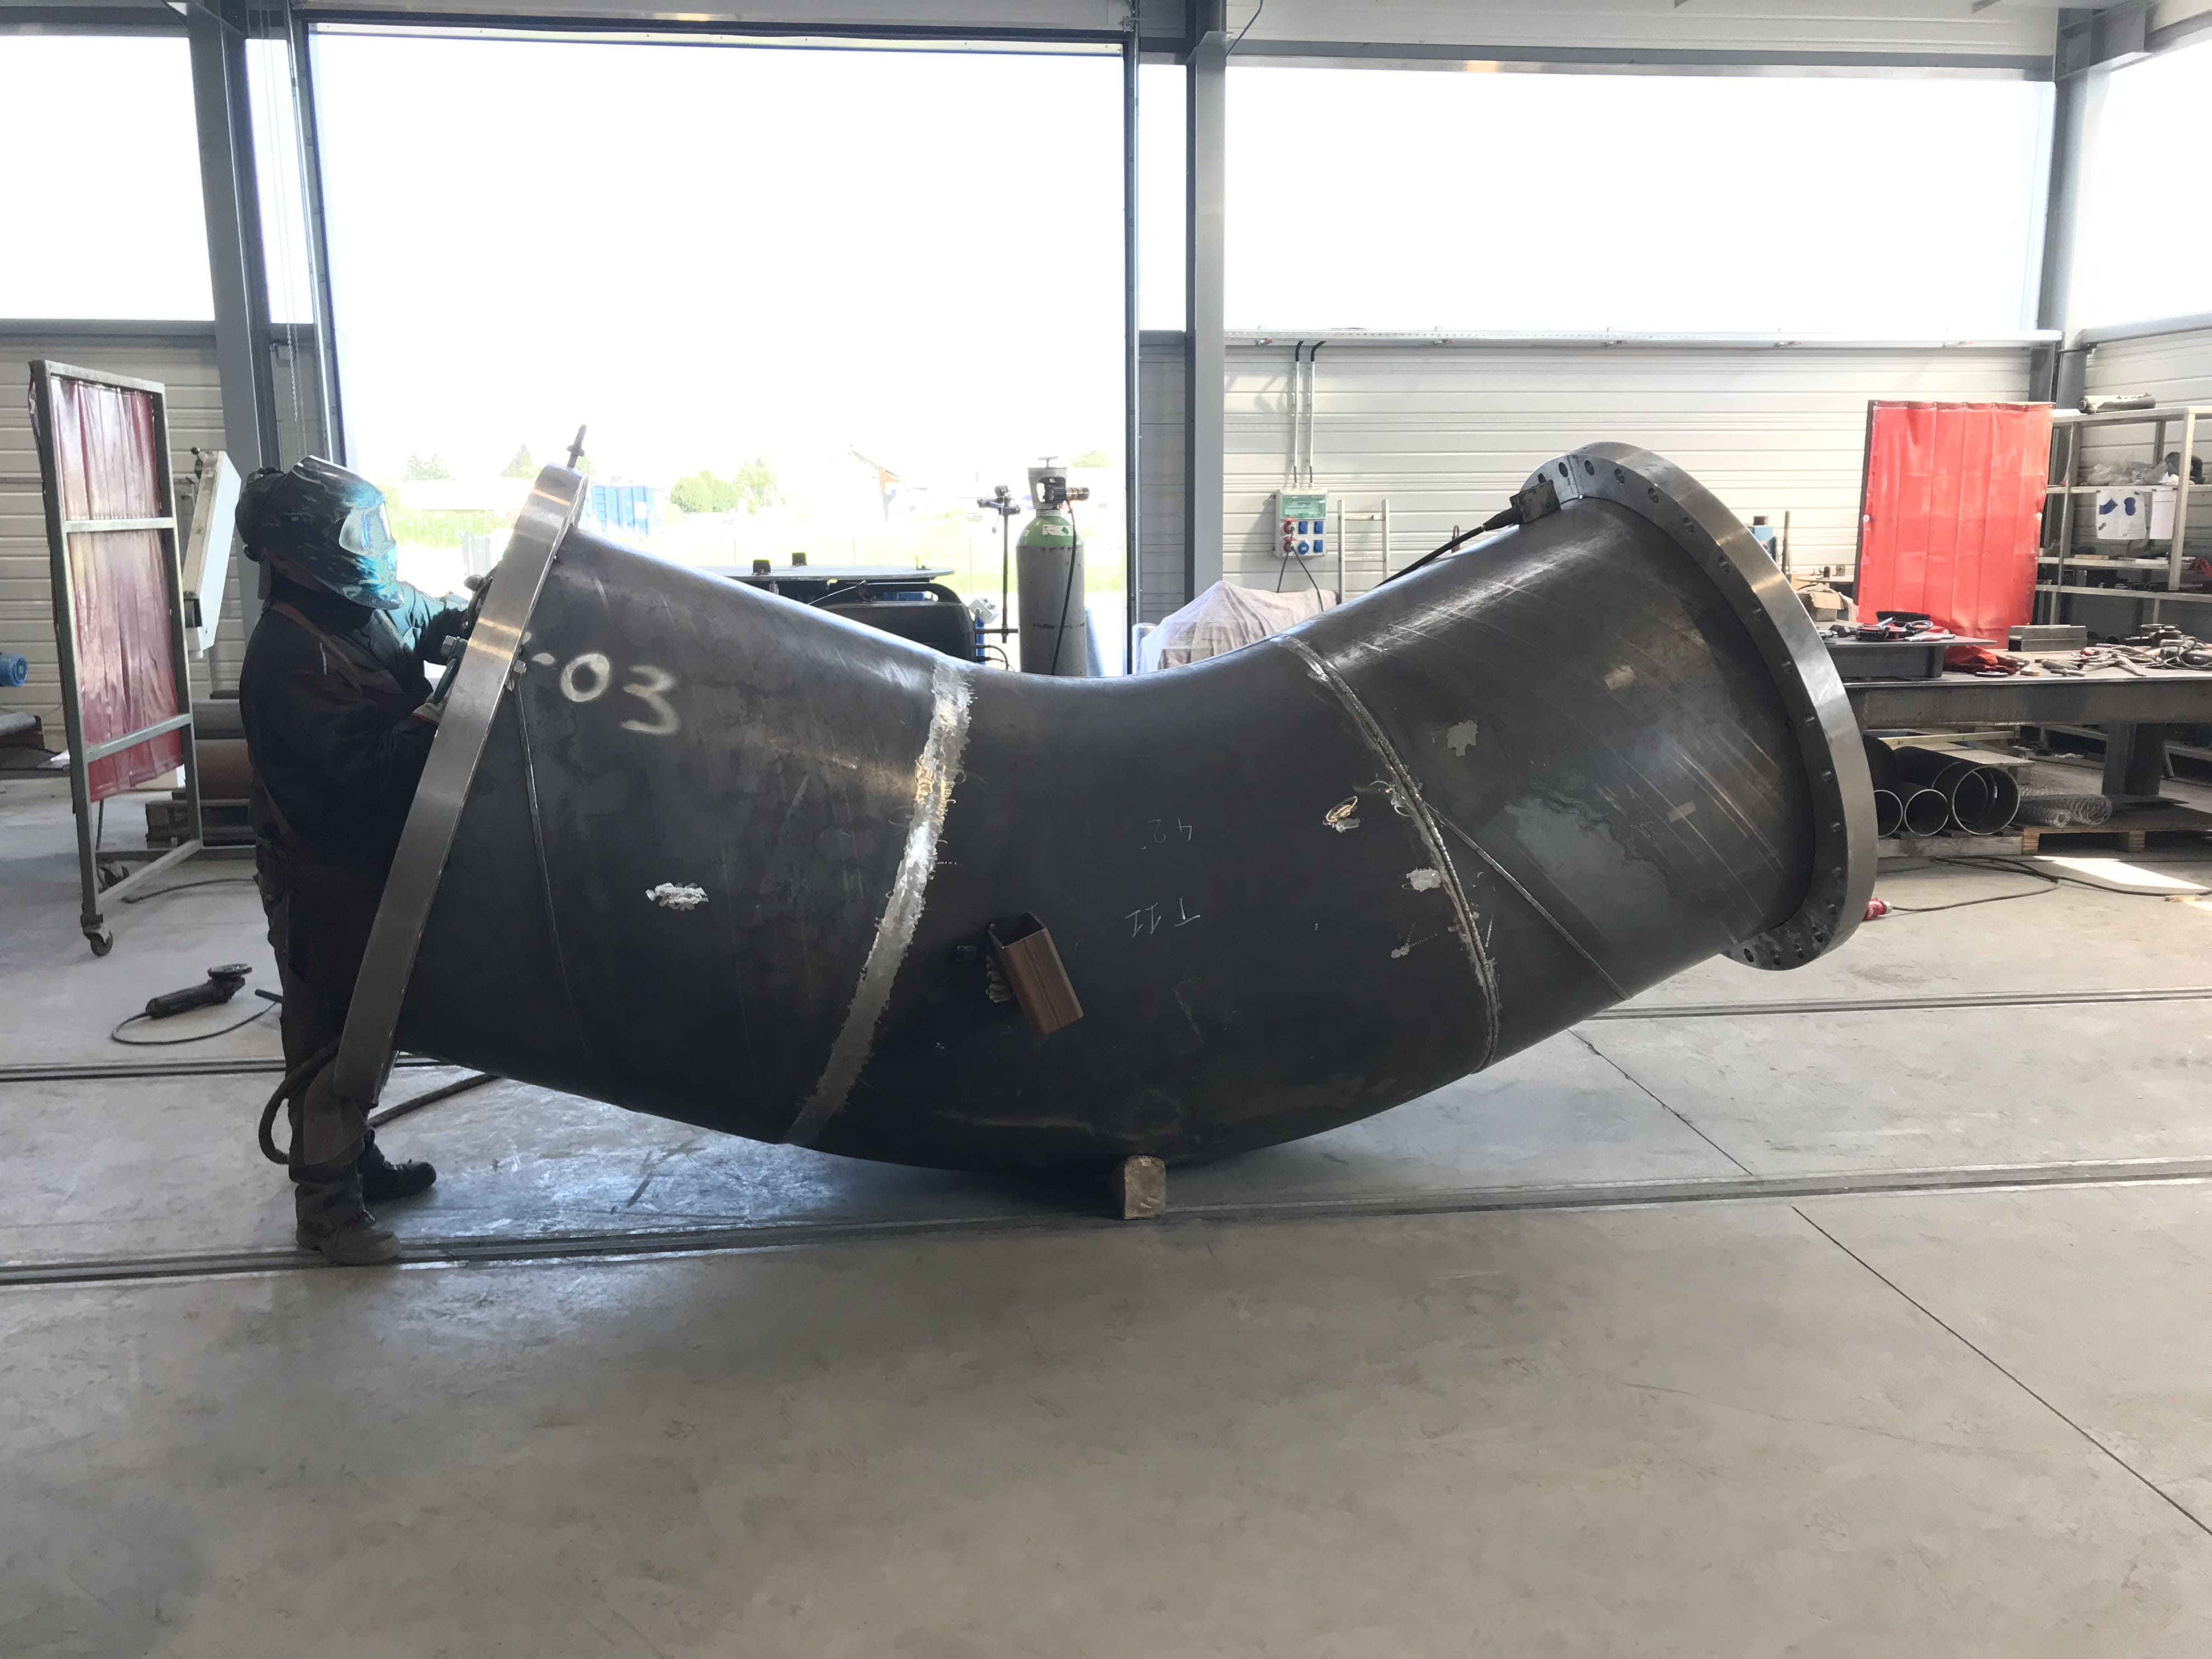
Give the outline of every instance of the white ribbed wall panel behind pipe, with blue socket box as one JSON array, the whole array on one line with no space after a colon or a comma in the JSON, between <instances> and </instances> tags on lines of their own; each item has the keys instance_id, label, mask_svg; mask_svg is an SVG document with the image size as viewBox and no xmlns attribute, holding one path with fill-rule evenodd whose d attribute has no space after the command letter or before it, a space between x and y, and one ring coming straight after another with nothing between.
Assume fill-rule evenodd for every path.
<instances>
[{"instance_id":1,"label":"white ribbed wall panel behind pipe, with blue socket box","mask_svg":"<svg viewBox=\"0 0 2212 1659\"><path fill-rule=\"evenodd\" d=\"M1285 575L1272 495L1290 482L1287 347L1232 347L1225 566L1245 586ZM1504 507L1577 445L1655 449L1745 520L1790 513L1798 568L1847 575L1871 398L2006 400L2028 354L1993 349L1323 347L1314 369L1314 489L1332 507L1391 504L1391 568ZM1376 526L1354 526L1352 593L1380 575ZM1334 553L1316 575L1334 586ZM1287 571L1287 580L1298 580Z\"/></svg>"}]
</instances>

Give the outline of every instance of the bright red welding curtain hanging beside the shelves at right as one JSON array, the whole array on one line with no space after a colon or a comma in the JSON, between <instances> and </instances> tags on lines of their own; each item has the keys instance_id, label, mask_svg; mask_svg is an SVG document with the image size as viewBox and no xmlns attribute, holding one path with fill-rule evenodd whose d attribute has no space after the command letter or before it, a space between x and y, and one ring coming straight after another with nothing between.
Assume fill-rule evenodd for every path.
<instances>
[{"instance_id":1,"label":"bright red welding curtain hanging beside the shelves at right","mask_svg":"<svg viewBox=\"0 0 2212 1659\"><path fill-rule=\"evenodd\" d=\"M1874 403L1858 615L1924 611L2004 644L2035 604L2048 403Z\"/></svg>"}]
</instances>

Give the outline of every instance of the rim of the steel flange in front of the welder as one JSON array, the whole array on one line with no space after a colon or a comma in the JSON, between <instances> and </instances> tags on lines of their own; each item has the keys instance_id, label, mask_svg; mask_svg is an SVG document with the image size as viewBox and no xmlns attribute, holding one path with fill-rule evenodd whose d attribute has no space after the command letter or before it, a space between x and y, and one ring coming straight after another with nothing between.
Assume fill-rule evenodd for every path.
<instances>
[{"instance_id":1,"label":"rim of the steel flange in front of the welder","mask_svg":"<svg viewBox=\"0 0 2212 1659\"><path fill-rule=\"evenodd\" d=\"M453 827L476 781L476 765L515 666L515 653L529 639L538 588L582 500L584 480L577 473L564 467L538 473L509 535L507 557L500 560L495 580L484 593L469 648L453 666L453 690L445 699L438 741L431 743L422 781L416 785L392 876L385 880L385 898L369 929L369 947L361 958L354 1002L345 1015L336 1084L352 1099L374 1102L383 1088L392 1060L392 1031L414 971L422 922L445 876Z\"/></svg>"}]
</instances>

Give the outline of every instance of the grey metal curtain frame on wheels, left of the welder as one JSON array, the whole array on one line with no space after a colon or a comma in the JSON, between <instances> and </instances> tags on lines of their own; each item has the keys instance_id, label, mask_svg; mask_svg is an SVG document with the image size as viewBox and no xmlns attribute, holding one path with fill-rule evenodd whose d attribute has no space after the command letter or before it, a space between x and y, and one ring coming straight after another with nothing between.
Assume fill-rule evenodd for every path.
<instances>
[{"instance_id":1,"label":"grey metal curtain frame on wheels, left of the welder","mask_svg":"<svg viewBox=\"0 0 2212 1659\"><path fill-rule=\"evenodd\" d=\"M62 515L62 467L60 451L55 447L55 380L80 380L84 385L119 387L124 392L144 392L153 403L153 465L155 465L155 500L161 511L155 518L126 518L126 520L71 520ZM181 865L186 858L197 854L204 845L204 830L199 821L199 759L192 743L192 675L186 659L186 628L184 628L184 582L177 566L177 484L170 476L168 460L168 392L155 380L133 380L122 374L102 374L97 369L77 369L66 363L38 361L31 365L31 407L38 416L38 469L40 482L46 495L46 546L53 555L53 644L60 653L62 668L62 721L69 734L69 794L75 805L77 816L77 883L82 889L82 925L84 938L93 947L93 956L106 956L113 947L113 933L108 933L104 907L126 898L133 889L150 880L153 876ZM144 726L135 732L124 732L122 737L108 739L104 743L86 745L84 741L84 699L77 684L77 597L75 577L69 564L69 538L71 535L100 535L102 531L155 531L161 538L161 591L168 599L168 646L170 646L170 672L177 688L177 712ZM179 754L184 763L184 803L186 803L186 838L170 847L166 854L153 858L142 869L124 876L117 883L100 885L100 860L102 849L93 843L93 790L91 772L95 761L104 761L111 754L122 754L124 750L137 748L148 739L164 737L166 732L179 732ZM144 856L144 854L115 854L117 858Z\"/></svg>"}]
</instances>

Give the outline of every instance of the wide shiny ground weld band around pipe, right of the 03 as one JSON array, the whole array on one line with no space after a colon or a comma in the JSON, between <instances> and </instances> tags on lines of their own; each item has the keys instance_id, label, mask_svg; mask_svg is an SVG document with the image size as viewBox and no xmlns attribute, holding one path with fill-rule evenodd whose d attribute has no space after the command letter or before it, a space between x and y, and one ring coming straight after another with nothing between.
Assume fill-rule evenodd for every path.
<instances>
[{"instance_id":1,"label":"wide shiny ground weld band around pipe, right of the 03","mask_svg":"<svg viewBox=\"0 0 2212 1659\"><path fill-rule=\"evenodd\" d=\"M933 708L929 737L914 763L914 818L907 825L907 847L898 858L898 874L891 876L891 894L883 900L883 918L867 947L867 962L860 964L845 1024L830 1044L821 1082L783 1130L783 1139L792 1146L814 1146L830 1119L845 1110L845 1097L852 1095L876 1048L876 1026L891 1000L891 982L922 920L922 898L938 860L938 836L945 830L945 810L953 801L953 779L960 776L960 752L967 748L969 728L969 684L951 661L929 670L929 692Z\"/></svg>"}]
</instances>

